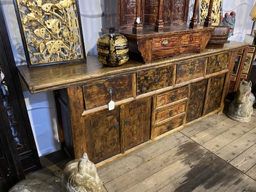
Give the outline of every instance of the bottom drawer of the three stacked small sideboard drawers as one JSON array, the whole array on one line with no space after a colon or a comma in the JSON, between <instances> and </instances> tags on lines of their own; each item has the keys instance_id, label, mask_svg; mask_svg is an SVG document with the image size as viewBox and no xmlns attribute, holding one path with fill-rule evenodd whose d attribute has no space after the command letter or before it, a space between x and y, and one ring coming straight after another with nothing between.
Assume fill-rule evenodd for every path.
<instances>
[{"instance_id":1,"label":"bottom drawer of the three stacked small sideboard drawers","mask_svg":"<svg viewBox=\"0 0 256 192\"><path fill-rule=\"evenodd\" d=\"M152 129L152 138L182 126L184 117L185 115L181 115L161 125L154 125L154 128Z\"/></svg>"}]
</instances>

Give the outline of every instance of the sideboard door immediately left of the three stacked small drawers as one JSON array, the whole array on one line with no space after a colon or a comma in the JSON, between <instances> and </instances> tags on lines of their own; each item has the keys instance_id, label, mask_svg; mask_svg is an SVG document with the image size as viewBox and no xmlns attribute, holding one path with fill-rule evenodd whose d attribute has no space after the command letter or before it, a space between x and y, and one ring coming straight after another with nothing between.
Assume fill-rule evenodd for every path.
<instances>
[{"instance_id":1,"label":"sideboard door immediately left of the three stacked small drawers","mask_svg":"<svg viewBox=\"0 0 256 192\"><path fill-rule=\"evenodd\" d=\"M146 98L122 106L124 150L149 140L151 104L152 99Z\"/></svg>"}]
</instances>

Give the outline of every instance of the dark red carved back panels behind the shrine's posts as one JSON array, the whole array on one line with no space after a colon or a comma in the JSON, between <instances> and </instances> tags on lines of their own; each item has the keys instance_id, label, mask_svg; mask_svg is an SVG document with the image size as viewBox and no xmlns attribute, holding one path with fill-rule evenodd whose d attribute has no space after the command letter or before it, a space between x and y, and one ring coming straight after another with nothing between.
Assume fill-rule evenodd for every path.
<instances>
[{"instance_id":1,"label":"dark red carved back panels behind the shrine's posts","mask_svg":"<svg viewBox=\"0 0 256 192\"><path fill-rule=\"evenodd\" d=\"M136 20L136 0L104 0L105 28L114 26L120 30L132 28ZM159 11L158 0L141 0L143 25L154 25ZM162 16L165 26L187 21L189 0L164 0Z\"/></svg>"}]
</instances>

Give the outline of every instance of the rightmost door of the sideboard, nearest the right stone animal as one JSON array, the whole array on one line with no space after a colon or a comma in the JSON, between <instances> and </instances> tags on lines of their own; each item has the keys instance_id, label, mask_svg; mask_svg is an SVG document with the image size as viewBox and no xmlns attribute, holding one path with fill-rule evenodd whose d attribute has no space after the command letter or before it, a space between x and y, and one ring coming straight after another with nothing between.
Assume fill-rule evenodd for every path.
<instances>
[{"instance_id":1,"label":"rightmost door of the sideboard, nearest the right stone animal","mask_svg":"<svg viewBox=\"0 0 256 192\"><path fill-rule=\"evenodd\" d=\"M223 85L226 74L210 78L210 85L207 91L207 100L205 103L205 113L213 112L220 107L220 101L223 93Z\"/></svg>"}]
</instances>

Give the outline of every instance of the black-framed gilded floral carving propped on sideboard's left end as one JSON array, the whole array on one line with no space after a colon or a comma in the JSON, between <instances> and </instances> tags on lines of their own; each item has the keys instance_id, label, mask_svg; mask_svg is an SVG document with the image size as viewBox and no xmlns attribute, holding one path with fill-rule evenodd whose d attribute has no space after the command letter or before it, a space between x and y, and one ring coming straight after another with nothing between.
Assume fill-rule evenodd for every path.
<instances>
[{"instance_id":1,"label":"black-framed gilded floral carving propped on sideboard's left end","mask_svg":"<svg viewBox=\"0 0 256 192\"><path fill-rule=\"evenodd\" d=\"M28 67L86 59L77 0L15 0Z\"/></svg>"}]
</instances>

